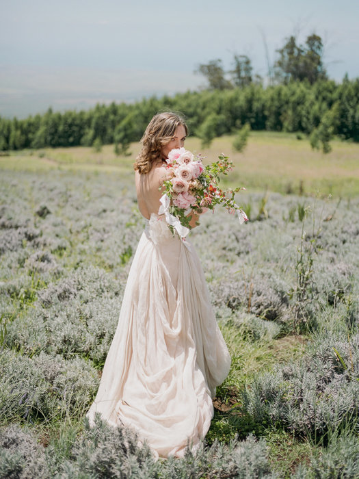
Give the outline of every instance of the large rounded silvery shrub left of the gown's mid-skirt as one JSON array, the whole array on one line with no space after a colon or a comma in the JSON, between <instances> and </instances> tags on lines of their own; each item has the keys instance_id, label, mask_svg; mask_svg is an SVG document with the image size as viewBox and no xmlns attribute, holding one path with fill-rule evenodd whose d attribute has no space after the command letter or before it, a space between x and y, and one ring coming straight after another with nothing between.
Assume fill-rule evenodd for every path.
<instances>
[{"instance_id":1,"label":"large rounded silvery shrub left of the gown's mid-skirt","mask_svg":"<svg viewBox=\"0 0 359 479\"><path fill-rule=\"evenodd\" d=\"M40 289L34 308L8 324L5 344L26 354L81 354L101 365L117 326L121 295L121 285L103 270L78 268Z\"/></svg>"}]
</instances>

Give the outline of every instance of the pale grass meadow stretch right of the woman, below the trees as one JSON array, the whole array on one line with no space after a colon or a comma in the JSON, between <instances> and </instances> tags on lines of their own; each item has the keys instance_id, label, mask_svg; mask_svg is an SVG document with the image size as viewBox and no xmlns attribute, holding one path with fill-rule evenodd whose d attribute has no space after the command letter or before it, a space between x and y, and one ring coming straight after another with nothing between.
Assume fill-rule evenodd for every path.
<instances>
[{"instance_id":1,"label":"pale grass meadow stretch right of the woman, below the trees","mask_svg":"<svg viewBox=\"0 0 359 479\"><path fill-rule=\"evenodd\" d=\"M230 146L231 138L213 143L213 155ZM313 151L308 141L286 133L252 133L243 153L232 153L238 176L248 189L281 193L356 196L359 192L359 145L332 142L332 152ZM226 150L228 151L228 150ZM242 179L243 178L243 179ZM233 178L234 181L234 178Z\"/></svg>"}]
</instances>

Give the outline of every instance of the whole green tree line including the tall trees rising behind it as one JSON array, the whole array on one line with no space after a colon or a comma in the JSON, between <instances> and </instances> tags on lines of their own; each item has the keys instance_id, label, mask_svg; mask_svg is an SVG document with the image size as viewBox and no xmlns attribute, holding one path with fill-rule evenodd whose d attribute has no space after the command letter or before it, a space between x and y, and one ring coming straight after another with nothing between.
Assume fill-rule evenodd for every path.
<instances>
[{"instance_id":1,"label":"whole green tree line including the tall trees rising behind it","mask_svg":"<svg viewBox=\"0 0 359 479\"><path fill-rule=\"evenodd\" d=\"M94 146L115 144L126 154L137 142L152 116L160 111L182 112L191 134L204 145L213 138L248 129L289 131L310 135L313 148L330 151L333 135L359 142L359 79L341 83L328 79L322 62L323 44L315 34L298 44L287 38L274 65L269 67L269 86L253 74L246 55L233 57L225 71L221 60L200 64L197 72L207 88L174 96L152 96L133 104L96 105L88 111L68 110L12 120L0 116L0 151L47 146Z\"/></svg>"}]
</instances>

